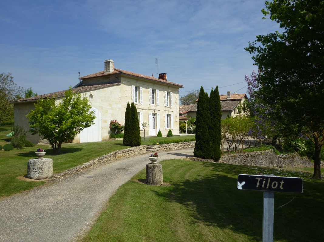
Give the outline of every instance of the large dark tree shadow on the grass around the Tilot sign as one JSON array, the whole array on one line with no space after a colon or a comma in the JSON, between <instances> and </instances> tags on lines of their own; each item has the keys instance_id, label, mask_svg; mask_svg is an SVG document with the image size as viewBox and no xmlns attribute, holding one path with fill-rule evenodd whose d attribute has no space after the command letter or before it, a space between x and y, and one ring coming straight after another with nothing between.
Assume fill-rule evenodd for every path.
<instances>
[{"instance_id":1,"label":"large dark tree shadow on the grass around the Tilot sign","mask_svg":"<svg viewBox=\"0 0 324 242\"><path fill-rule=\"evenodd\" d=\"M203 222L205 225L231 229L247 235L253 241L260 241L263 194L260 191L237 189L236 176L260 171L250 166L199 164L217 173L173 183L171 194L164 191L156 191L156 194L185 206L192 215L192 223ZM324 199L320 195L324 193L323 185L304 182L303 194L275 193L274 240L323 241L323 235L319 232L324 226Z\"/></svg>"}]
</instances>

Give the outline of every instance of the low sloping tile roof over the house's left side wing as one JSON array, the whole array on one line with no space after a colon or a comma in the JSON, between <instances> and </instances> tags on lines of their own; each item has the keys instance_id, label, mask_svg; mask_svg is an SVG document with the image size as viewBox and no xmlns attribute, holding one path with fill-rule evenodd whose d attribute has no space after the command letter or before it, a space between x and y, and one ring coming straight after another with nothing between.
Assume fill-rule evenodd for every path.
<instances>
[{"instance_id":1,"label":"low sloping tile roof over the house's left side wing","mask_svg":"<svg viewBox=\"0 0 324 242\"><path fill-rule=\"evenodd\" d=\"M104 88L106 86L112 86L112 85L116 85L115 83L113 84L102 84L102 85L93 85L93 86L78 86L75 88L72 88L73 92L79 92L79 93L83 93L83 92L88 92L88 91L92 91L92 90L96 90L96 89L100 89L100 88ZM48 93L48 94L43 94L43 95L39 95L39 96L33 96L33 97L29 97L29 98L23 98L23 99L19 99L19 100L15 100L12 101L11 103L17 103L17 102L32 102L32 101L37 101L39 99L42 98L51 98L51 97L62 97L65 96L65 91L59 91L59 92L53 92L53 93Z\"/></svg>"}]
</instances>

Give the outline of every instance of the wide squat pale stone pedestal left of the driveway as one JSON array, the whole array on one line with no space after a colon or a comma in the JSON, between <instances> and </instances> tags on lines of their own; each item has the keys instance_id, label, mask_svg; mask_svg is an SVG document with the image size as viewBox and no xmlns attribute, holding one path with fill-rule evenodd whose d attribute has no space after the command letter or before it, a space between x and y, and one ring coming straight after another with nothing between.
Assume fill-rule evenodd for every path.
<instances>
[{"instance_id":1,"label":"wide squat pale stone pedestal left of the driveway","mask_svg":"<svg viewBox=\"0 0 324 242\"><path fill-rule=\"evenodd\" d=\"M31 179L46 179L53 175L53 160L49 158L29 159L27 177Z\"/></svg>"}]
</instances>

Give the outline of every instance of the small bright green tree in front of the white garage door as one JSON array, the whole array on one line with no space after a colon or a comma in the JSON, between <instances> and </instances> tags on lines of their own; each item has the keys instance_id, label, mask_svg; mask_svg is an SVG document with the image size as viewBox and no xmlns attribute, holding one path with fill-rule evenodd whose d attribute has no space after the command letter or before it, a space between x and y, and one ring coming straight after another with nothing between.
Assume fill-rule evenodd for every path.
<instances>
[{"instance_id":1,"label":"small bright green tree in front of the white garage door","mask_svg":"<svg viewBox=\"0 0 324 242\"><path fill-rule=\"evenodd\" d=\"M30 132L47 139L54 153L60 153L66 139L74 139L84 128L90 127L96 118L86 96L73 93L70 88L58 103L55 97L38 100L35 109L27 115Z\"/></svg>"}]
</instances>

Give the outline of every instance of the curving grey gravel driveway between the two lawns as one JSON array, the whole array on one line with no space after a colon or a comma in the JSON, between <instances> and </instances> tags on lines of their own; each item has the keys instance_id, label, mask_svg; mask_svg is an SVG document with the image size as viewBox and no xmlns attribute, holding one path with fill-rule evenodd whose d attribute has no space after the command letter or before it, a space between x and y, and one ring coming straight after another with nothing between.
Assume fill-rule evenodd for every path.
<instances>
[{"instance_id":1,"label":"curving grey gravel driveway between the two lawns","mask_svg":"<svg viewBox=\"0 0 324 242\"><path fill-rule=\"evenodd\" d=\"M145 168L147 156L93 166L0 200L0 241L74 241L92 226L118 187ZM191 156L193 147L159 152L159 161Z\"/></svg>"}]
</instances>

